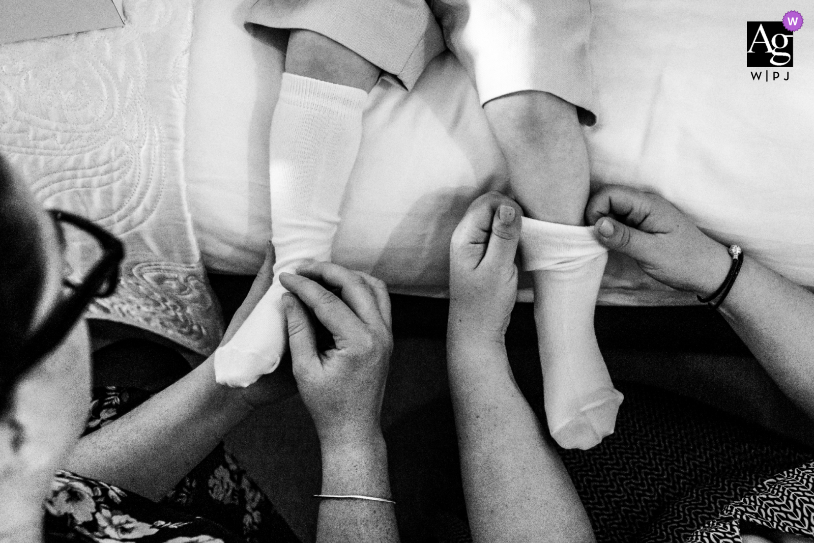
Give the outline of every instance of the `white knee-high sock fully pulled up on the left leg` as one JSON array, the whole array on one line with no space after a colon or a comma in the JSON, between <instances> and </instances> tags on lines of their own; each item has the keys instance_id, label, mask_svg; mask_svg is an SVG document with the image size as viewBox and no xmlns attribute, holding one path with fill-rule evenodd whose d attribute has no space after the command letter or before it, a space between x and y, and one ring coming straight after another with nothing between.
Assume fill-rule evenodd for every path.
<instances>
[{"instance_id":1,"label":"white knee-high sock fully pulled up on the left leg","mask_svg":"<svg viewBox=\"0 0 814 543\"><path fill-rule=\"evenodd\" d=\"M215 353L218 383L247 387L277 368L287 348L278 281L305 259L330 261L339 208L361 143L367 93L282 75L269 138L274 283L228 344Z\"/></svg>"}]
</instances>

